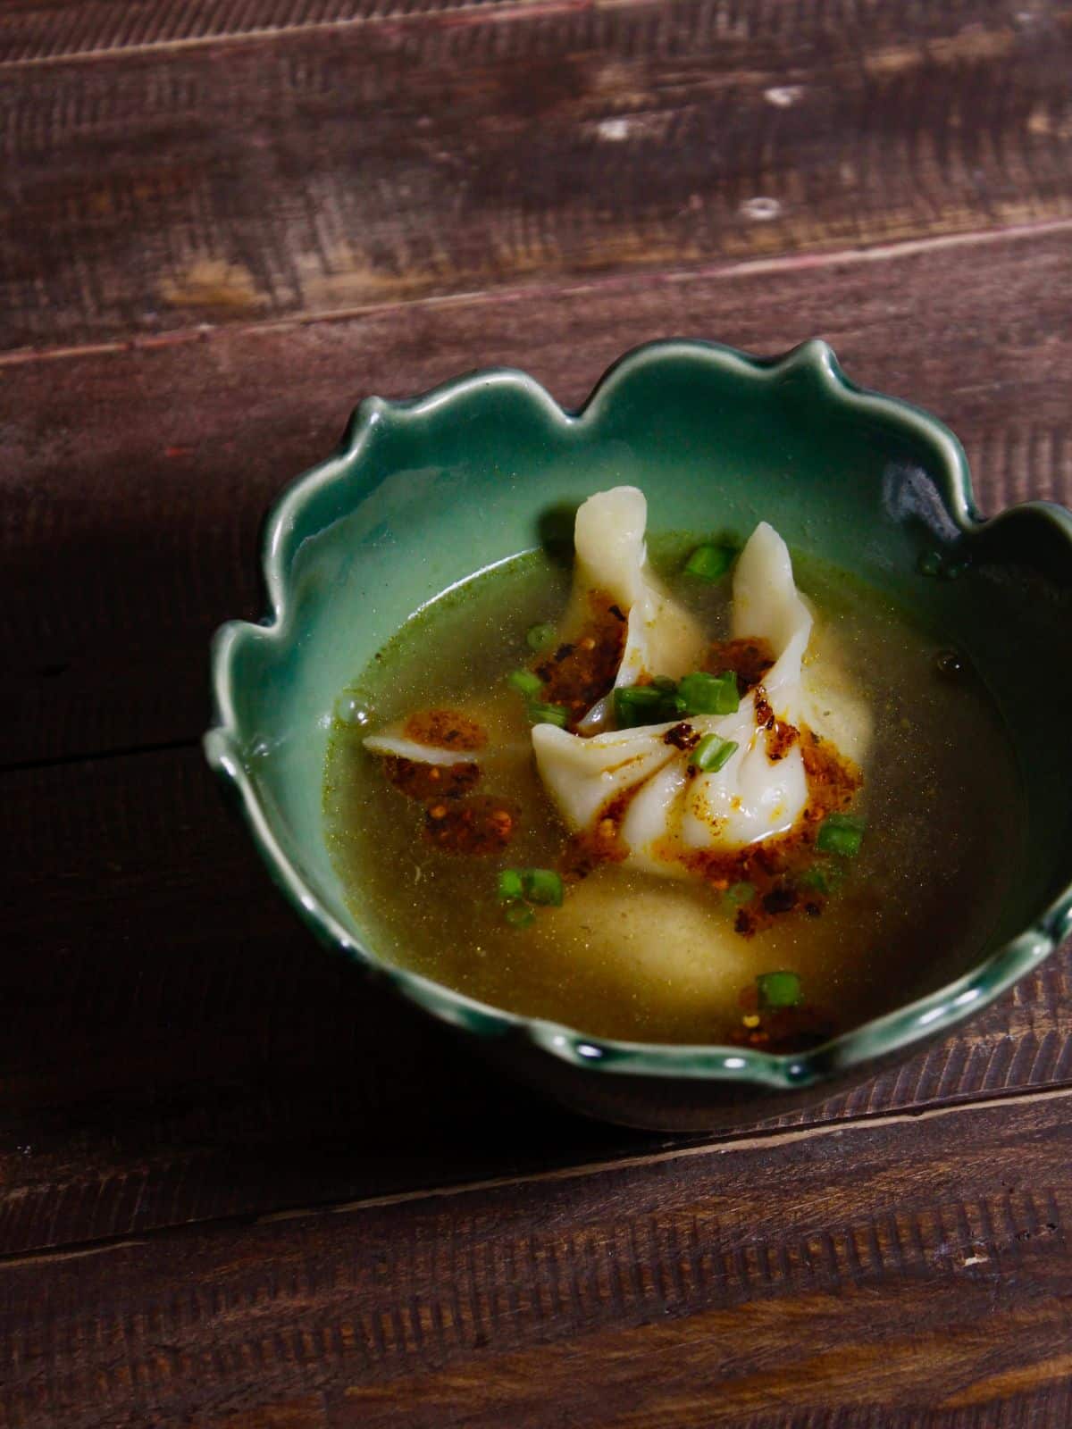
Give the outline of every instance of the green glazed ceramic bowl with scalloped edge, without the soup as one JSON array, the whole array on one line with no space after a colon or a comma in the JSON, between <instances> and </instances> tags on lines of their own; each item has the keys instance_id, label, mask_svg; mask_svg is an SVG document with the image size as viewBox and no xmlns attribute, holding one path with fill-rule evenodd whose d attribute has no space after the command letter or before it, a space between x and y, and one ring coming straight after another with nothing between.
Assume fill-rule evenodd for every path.
<instances>
[{"instance_id":1,"label":"green glazed ceramic bowl with scalloped edge, without the soup","mask_svg":"<svg viewBox=\"0 0 1072 1429\"><path fill-rule=\"evenodd\" d=\"M655 530L768 517L790 546L889 592L968 653L1012 732L1026 872L991 946L815 1052L609 1042L476 1003L382 962L332 866L322 785L339 692L425 602L536 546L542 513L623 482L646 492ZM660 1129L780 1113L978 1012L1072 930L1072 747L1053 717L1072 707L1072 516L1031 503L981 520L956 437L852 386L822 342L776 360L653 343L579 413L509 370L372 397L273 509L263 564L269 616L216 636L204 749L270 873L354 969L575 1107Z\"/></svg>"}]
</instances>

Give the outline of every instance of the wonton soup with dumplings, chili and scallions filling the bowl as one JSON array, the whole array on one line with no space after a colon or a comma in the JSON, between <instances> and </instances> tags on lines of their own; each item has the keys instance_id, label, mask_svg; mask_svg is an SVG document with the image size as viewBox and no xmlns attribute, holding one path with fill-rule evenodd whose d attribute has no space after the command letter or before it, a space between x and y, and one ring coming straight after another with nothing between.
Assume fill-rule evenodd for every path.
<instances>
[{"instance_id":1,"label":"wonton soup with dumplings, chili and scallions filling the bowl","mask_svg":"<svg viewBox=\"0 0 1072 1429\"><path fill-rule=\"evenodd\" d=\"M979 953L1018 792L978 683L845 577L802 596L766 523L660 576L616 487L575 546L569 590L542 556L475 577L352 692L326 815L377 950L593 1036L775 1052Z\"/></svg>"}]
</instances>

